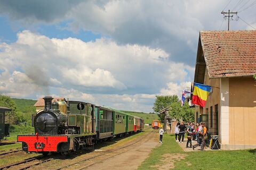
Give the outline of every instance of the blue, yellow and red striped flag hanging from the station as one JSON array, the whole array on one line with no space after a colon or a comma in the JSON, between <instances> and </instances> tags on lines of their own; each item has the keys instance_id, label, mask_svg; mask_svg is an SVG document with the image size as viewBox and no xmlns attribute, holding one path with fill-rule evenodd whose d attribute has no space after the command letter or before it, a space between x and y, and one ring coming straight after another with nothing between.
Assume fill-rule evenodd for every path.
<instances>
[{"instance_id":1,"label":"blue, yellow and red striped flag hanging from the station","mask_svg":"<svg viewBox=\"0 0 256 170\"><path fill-rule=\"evenodd\" d=\"M211 86L207 86L205 84L200 83L194 83L192 103L204 107L211 89Z\"/></svg>"}]
</instances>

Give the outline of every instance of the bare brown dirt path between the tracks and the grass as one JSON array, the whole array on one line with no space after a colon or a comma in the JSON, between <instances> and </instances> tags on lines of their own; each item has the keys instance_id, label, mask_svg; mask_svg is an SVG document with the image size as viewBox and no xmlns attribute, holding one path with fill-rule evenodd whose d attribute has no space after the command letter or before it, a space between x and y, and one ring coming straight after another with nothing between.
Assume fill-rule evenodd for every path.
<instances>
[{"instance_id":1,"label":"bare brown dirt path between the tracks and the grass","mask_svg":"<svg viewBox=\"0 0 256 170\"><path fill-rule=\"evenodd\" d=\"M137 169L151 150L159 145L158 133L153 132L122 154L103 160L86 169Z\"/></svg>"}]
</instances>

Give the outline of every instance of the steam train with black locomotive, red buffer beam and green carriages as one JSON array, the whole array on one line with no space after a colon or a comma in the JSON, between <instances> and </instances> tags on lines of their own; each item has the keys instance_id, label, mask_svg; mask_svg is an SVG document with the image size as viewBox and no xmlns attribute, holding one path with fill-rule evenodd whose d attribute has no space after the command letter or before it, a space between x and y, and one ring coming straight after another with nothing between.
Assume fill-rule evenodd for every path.
<instances>
[{"instance_id":1,"label":"steam train with black locomotive, red buffer beam and green carriages","mask_svg":"<svg viewBox=\"0 0 256 170\"><path fill-rule=\"evenodd\" d=\"M100 140L142 131L144 120L113 108L95 106L82 101L52 103L44 97L45 108L33 115L33 135L18 135L22 150L66 154Z\"/></svg>"}]
</instances>

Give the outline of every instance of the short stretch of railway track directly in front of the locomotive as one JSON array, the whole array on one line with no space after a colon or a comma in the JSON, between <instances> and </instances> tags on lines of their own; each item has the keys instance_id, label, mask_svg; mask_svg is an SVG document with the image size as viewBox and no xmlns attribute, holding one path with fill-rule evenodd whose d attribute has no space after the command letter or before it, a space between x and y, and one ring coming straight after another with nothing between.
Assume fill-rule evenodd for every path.
<instances>
[{"instance_id":1,"label":"short stretch of railway track directly in front of the locomotive","mask_svg":"<svg viewBox=\"0 0 256 170\"><path fill-rule=\"evenodd\" d=\"M39 165L39 164L42 164L42 163L52 160L52 158L39 160L40 158L44 158L44 156L37 156L34 158L23 160L18 163L3 166L3 167L0 167L0 170L2 170L2 169L15 169L15 170L27 169L27 168L30 168L31 166Z\"/></svg>"}]
</instances>

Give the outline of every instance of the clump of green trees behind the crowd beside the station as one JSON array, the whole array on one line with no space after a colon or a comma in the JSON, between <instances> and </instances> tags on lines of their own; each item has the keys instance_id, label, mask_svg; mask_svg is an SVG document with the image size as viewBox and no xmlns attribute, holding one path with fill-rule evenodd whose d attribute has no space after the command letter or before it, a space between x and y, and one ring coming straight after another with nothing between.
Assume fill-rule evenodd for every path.
<instances>
[{"instance_id":1,"label":"clump of green trees behind the crowd beside the station","mask_svg":"<svg viewBox=\"0 0 256 170\"><path fill-rule=\"evenodd\" d=\"M156 95L154 111L159 113L162 109L170 107L169 116L177 121L192 122L195 118L195 108L190 107L187 102L181 106L181 101L177 95ZM164 122L164 114L158 114L159 120Z\"/></svg>"}]
</instances>

